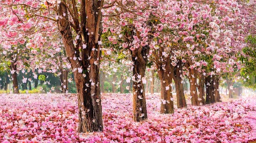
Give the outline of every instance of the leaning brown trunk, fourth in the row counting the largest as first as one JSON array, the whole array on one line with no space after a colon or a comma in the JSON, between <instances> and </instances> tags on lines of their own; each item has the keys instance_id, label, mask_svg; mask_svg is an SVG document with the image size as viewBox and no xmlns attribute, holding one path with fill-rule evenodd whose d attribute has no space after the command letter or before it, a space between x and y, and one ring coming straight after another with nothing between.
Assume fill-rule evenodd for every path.
<instances>
[{"instance_id":1,"label":"leaning brown trunk, fourth in the row counting the largest as first","mask_svg":"<svg viewBox=\"0 0 256 143\"><path fill-rule=\"evenodd\" d=\"M176 98L177 98L177 107L178 108L186 108L186 98L184 94L183 84L181 83L181 75L182 75L182 62L178 61L175 67L171 65L174 72L174 82L176 88Z\"/></svg>"}]
</instances>

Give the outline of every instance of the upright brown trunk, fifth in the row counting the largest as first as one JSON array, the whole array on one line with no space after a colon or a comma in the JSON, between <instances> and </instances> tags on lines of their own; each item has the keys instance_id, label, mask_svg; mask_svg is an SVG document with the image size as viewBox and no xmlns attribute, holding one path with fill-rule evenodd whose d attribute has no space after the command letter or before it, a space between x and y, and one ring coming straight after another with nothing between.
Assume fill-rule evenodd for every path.
<instances>
[{"instance_id":1,"label":"upright brown trunk, fifth in the row counting the largest as first","mask_svg":"<svg viewBox=\"0 0 256 143\"><path fill-rule=\"evenodd\" d=\"M189 69L189 82L190 82L190 94L191 94L191 104L199 105L198 94L197 94L197 73L196 69Z\"/></svg>"}]
</instances>

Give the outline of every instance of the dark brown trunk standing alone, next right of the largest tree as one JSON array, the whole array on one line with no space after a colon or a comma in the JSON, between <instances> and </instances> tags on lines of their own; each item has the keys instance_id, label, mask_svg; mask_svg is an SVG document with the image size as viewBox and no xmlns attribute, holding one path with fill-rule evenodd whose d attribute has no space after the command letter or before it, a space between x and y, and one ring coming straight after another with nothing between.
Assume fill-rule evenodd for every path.
<instances>
[{"instance_id":1,"label":"dark brown trunk standing alone, next right of the largest tree","mask_svg":"<svg viewBox=\"0 0 256 143\"><path fill-rule=\"evenodd\" d=\"M136 122L146 120L146 97L142 78L146 71L146 55L149 54L149 46L139 47L132 52L133 62L133 120Z\"/></svg>"}]
</instances>

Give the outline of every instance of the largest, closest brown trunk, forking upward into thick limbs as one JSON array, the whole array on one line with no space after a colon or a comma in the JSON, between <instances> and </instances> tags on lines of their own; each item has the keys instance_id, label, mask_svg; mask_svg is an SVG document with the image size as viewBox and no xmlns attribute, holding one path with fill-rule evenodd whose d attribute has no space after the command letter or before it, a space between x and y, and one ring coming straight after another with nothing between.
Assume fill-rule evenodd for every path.
<instances>
[{"instance_id":1,"label":"largest, closest brown trunk, forking upward into thick limbs","mask_svg":"<svg viewBox=\"0 0 256 143\"><path fill-rule=\"evenodd\" d=\"M73 43L68 9L65 1L58 6L58 30L63 39L65 52L74 72L75 84L78 90L78 132L102 131L102 106L100 97L100 46L97 44L101 35L102 1L81 0L80 25L78 11L75 11L75 35L80 35ZM64 14L65 13L65 14ZM100 24L100 25L99 25ZM79 28L81 26L81 28ZM79 50L82 45L86 48ZM76 57L76 58L74 58ZM79 58L81 58L81 60Z\"/></svg>"}]
</instances>

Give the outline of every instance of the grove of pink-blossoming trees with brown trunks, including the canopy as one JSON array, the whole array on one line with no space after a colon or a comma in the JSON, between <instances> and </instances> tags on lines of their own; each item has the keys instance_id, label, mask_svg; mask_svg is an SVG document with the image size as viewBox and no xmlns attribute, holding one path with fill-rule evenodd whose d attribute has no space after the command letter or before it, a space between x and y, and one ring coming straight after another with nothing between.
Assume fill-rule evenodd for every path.
<instances>
[{"instance_id":1,"label":"grove of pink-blossoming trees with brown trunks, including the canopy","mask_svg":"<svg viewBox=\"0 0 256 143\"><path fill-rule=\"evenodd\" d=\"M186 108L186 98L192 105L220 102L221 81L230 98L234 81L255 88L256 1L0 2L1 86L12 81L19 93L19 86L27 90L38 79L46 84L46 77L59 76L60 91L67 93L74 79L78 132L103 130L106 75L112 92L132 90L136 122L147 119L145 86L151 81L154 92L155 73L161 113L175 112L174 91L177 107Z\"/></svg>"}]
</instances>

